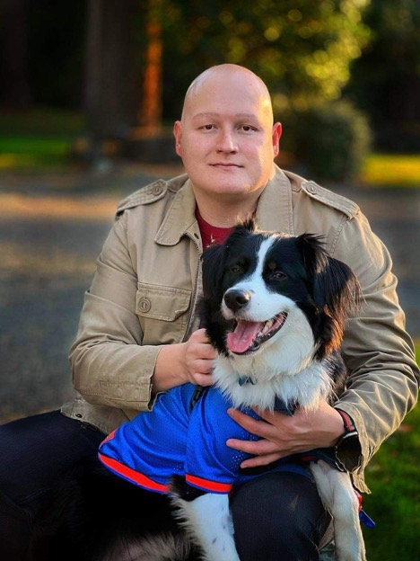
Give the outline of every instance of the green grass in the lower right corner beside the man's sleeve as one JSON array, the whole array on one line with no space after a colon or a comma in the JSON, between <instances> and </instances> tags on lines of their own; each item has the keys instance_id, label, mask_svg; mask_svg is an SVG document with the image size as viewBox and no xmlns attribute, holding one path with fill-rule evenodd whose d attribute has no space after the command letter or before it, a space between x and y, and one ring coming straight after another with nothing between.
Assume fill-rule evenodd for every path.
<instances>
[{"instance_id":1,"label":"green grass in the lower right corner beside the man's sleeve","mask_svg":"<svg viewBox=\"0 0 420 561\"><path fill-rule=\"evenodd\" d=\"M420 342L416 360L420 359ZM407 414L366 470L372 494L363 509L376 528L363 528L369 561L420 559L420 407Z\"/></svg>"}]
</instances>

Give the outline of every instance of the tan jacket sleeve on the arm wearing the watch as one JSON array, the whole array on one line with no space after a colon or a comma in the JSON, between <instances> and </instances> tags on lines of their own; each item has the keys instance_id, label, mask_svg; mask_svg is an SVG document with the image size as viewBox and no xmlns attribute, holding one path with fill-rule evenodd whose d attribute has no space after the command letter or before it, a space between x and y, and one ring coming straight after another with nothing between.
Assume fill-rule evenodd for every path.
<instances>
[{"instance_id":1,"label":"tan jacket sleeve on the arm wearing the watch","mask_svg":"<svg viewBox=\"0 0 420 561\"><path fill-rule=\"evenodd\" d=\"M418 367L389 252L363 214L346 221L334 254L354 269L363 289L359 315L350 319L346 329L343 356L350 374L346 392L337 402L359 432L358 472L363 474L381 442L416 404Z\"/></svg>"}]
</instances>

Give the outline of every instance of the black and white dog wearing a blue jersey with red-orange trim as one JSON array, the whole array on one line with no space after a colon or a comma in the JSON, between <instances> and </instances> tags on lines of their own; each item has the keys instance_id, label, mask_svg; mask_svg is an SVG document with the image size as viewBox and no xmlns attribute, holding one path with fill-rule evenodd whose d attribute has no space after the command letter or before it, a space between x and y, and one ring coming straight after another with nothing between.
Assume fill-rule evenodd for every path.
<instances>
[{"instance_id":1,"label":"black and white dog wearing a blue jersey with red-orange trim","mask_svg":"<svg viewBox=\"0 0 420 561\"><path fill-rule=\"evenodd\" d=\"M250 475L232 460L237 450L224 442L255 437L229 423L225 411L233 406L258 417L251 407L293 414L296 407L314 411L322 400L333 404L346 387L339 349L361 289L320 236L260 231L252 218L234 227L223 244L206 249L203 283L202 325L218 352L214 387L171 389L153 412L112 432L99 458L130 483L168 494L203 559L239 561L229 493ZM207 415L213 415L210 421ZM328 451L314 450L308 466L332 515L336 556L363 561L359 501L349 474L328 460L334 456Z\"/></svg>"}]
</instances>

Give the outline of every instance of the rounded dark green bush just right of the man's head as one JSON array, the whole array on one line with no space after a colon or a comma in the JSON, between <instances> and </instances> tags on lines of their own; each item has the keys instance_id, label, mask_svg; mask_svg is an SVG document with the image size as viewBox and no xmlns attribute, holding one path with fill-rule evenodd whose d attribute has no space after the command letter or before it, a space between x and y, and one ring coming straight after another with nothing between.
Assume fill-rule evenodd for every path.
<instances>
[{"instance_id":1,"label":"rounded dark green bush just right of the man's head","mask_svg":"<svg viewBox=\"0 0 420 561\"><path fill-rule=\"evenodd\" d=\"M354 180L370 152L371 129L362 111L345 101L284 115L285 146L315 180Z\"/></svg>"}]
</instances>

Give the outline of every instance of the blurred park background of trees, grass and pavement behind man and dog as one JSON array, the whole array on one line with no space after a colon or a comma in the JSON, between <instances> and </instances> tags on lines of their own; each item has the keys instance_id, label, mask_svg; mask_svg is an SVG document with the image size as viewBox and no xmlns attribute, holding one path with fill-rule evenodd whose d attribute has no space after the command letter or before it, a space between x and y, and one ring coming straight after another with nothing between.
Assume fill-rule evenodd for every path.
<instances>
[{"instance_id":1,"label":"blurred park background of trees, grass and pavement behind man and dog","mask_svg":"<svg viewBox=\"0 0 420 561\"><path fill-rule=\"evenodd\" d=\"M173 120L223 62L267 83L278 165L362 207L420 343L418 0L1 0L0 422L72 396L67 351L117 202L182 173ZM420 558L418 425L417 407L369 467L371 561Z\"/></svg>"}]
</instances>

